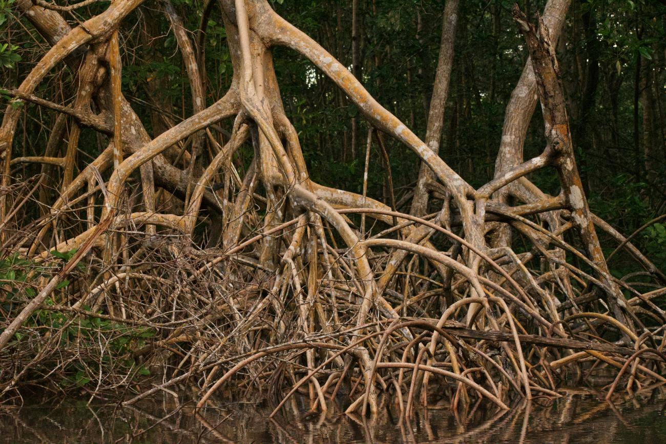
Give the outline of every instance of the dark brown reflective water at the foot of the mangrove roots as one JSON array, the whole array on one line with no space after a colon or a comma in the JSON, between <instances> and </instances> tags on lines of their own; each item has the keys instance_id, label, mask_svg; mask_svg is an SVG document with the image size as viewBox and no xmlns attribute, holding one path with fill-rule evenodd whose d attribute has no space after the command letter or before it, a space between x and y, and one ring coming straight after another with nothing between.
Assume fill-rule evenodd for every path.
<instances>
[{"instance_id":1,"label":"dark brown reflective water at the foot of the mangrove roots","mask_svg":"<svg viewBox=\"0 0 666 444\"><path fill-rule=\"evenodd\" d=\"M0 407L2 443L666 443L666 390L659 387L613 403L594 390L571 389L546 403L537 399L501 412L482 404L457 416L448 407L421 409L411 419L386 403L376 419L326 414L303 419L309 404L294 399L269 419L265 402L194 403L165 393L119 407L88 400ZM462 410L462 409L461 409Z\"/></svg>"}]
</instances>

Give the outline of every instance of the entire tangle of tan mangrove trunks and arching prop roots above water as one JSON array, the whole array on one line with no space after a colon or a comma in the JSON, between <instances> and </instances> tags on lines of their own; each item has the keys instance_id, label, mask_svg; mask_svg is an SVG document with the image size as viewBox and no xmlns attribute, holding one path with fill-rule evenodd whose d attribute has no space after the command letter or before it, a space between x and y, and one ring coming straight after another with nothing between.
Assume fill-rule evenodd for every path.
<instances>
[{"instance_id":1,"label":"entire tangle of tan mangrove trunks and arching prop roots above water","mask_svg":"<svg viewBox=\"0 0 666 444\"><path fill-rule=\"evenodd\" d=\"M120 385L138 389L127 403L184 381L204 389L198 408L236 384L247 385L246 392L266 389L282 400L272 415L300 389L322 411L327 399L346 393L348 413L377 413L378 392L395 390L400 411L405 401L409 414L418 397L428 403L432 387L446 386L452 389L438 393L454 394L452 408L486 399L506 409L532 392L557 396L553 379L592 359L619 368L609 397L623 375L629 388L634 381L664 380L665 318L653 302L666 293L664 275L631 236L589 210L551 41L559 29L549 32L541 19L535 27L515 7L533 69L521 83L531 81L538 93L546 146L526 162L498 162L501 174L474 189L437 154L457 1L446 4L450 25L442 35L427 144L265 0L220 1L234 71L226 95L210 106L202 49L174 7L163 3L193 112L151 138L123 97L120 77L120 27L141 3L113 1L71 28L61 16L69 7L17 2L51 48L9 94L63 116L54 134L62 134L65 118L73 129L62 158L53 148L13 157L21 112L8 107L0 126L1 248L3 258L12 258L5 261L12 276L23 276L20 284L0 282L7 302L3 395L31 381L57 385L73 365L79 382L96 384L95 395ZM557 9L561 23L568 2L551 0L547 9L555 3L565 3ZM212 14L206 7L202 27ZM282 108L272 67L276 46L312 62L366 118L362 195L310 180L298 133ZM71 105L36 93L59 63L78 70ZM218 129L232 117L221 137ZM75 174L83 127L105 134L110 144ZM395 208L392 188L393 208L368 196L368 164L377 160L372 143L380 143L377 151L388 163L386 134L422 161L410 214ZM234 162L243 144L254 153L246 169ZM170 154L174 148L177 156ZM55 200L11 178L12 165L31 163L63 169ZM526 180L543 168L557 174L561 196L547 196ZM138 184L131 180L135 172ZM511 207L509 192L527 197ZM435 202L442 206L425 216ZM31 204L45 214L22 220L21 208ZM535 216L548 220L548 229ZM631 253L657 289L640 294L611 276L595 226ZM579 236L582 252L563 240L567 230ZM503 242L507 232L533 248L516 254ZM63 256L71 250L77 250L73 257ZM623 290L633 299L625 300ZM95 326L106 329L100 330L104 340L93 340ZM121 343L114 335L131 339ZM147 372L164 379L142 393L133 381Z\"/></svg>"}]
</instances>

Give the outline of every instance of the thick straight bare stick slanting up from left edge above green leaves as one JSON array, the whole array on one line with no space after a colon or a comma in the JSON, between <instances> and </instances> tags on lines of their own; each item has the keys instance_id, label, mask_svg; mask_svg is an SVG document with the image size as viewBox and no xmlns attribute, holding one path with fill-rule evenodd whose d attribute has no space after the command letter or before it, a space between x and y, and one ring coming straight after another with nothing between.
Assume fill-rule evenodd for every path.
<instances>
[{"instance_id":1,"label":"thick straight bare stick slanting up from left edge above green leaves","mask_svg":"<svg viewBox=\"0 0 666 444\"><path fill-rule=\"evenodd\" d=\"M51 280L49 283L35 296L35 298L27 305L23 310L21 310L21 313L14 318L14 320L9 324L7 329L5 329L4 332L0 335L0 351L7 345L7 342L9 339L14 335L14 333L21 328L21 325L27 318L41 306L41 304L46 300L51 295L51 292L55 290L56 286L62 282L63 279L72 271L74 268L77 266L79 261L83 259L83 256L89 252L89 250L93 247L93 244L95 243L95 240L103 233L105 230L109 227L109 224L113 221L115 211L111 210L109 212L108 216L102 220L97 227L95 227L95 230L91 233L91 235L87 238L87 240L83 243L81 248L76 252L74 256L65 264L63 267L63 270L58 272Z\"/></svg>"}]
</instances>

